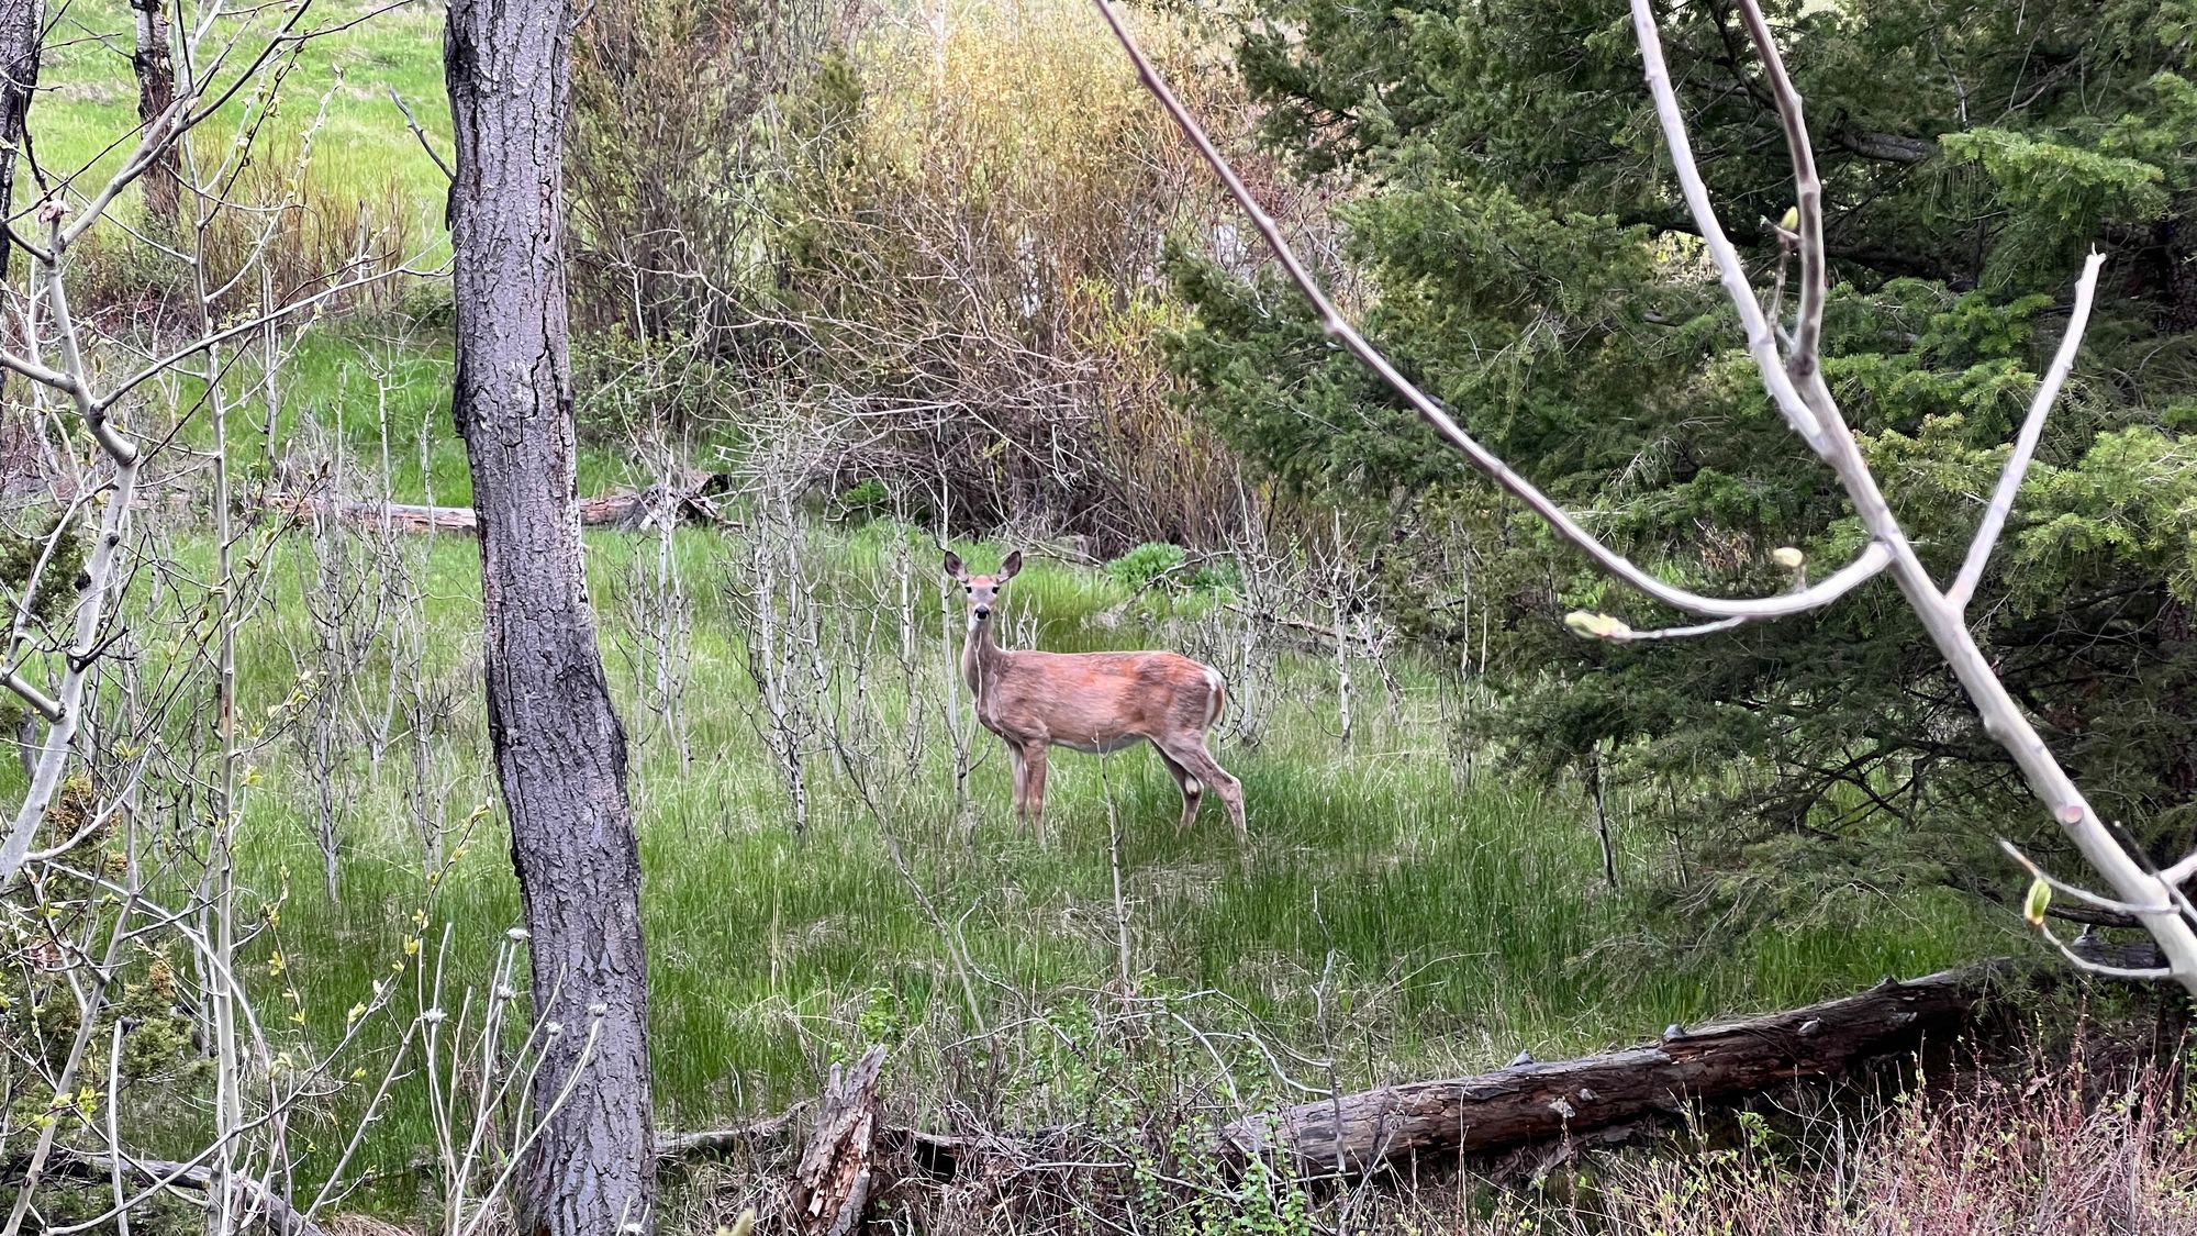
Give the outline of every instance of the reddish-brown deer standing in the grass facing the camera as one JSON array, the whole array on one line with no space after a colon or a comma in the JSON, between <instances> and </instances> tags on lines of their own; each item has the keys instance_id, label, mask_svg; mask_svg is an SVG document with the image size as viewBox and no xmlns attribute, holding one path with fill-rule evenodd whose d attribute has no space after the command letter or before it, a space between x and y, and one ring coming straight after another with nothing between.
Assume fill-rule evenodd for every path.
<instances>
[{"instance_id":1,"label":"reddish-brown deer standing in the grass facing the camera","mask_svg":"<svg viewBox=\"0 0 2197 1236\"><path fill-rule=\"evenodd\" d=\"M993 638L993 616L1000 589L1022 570L1022 550L1000 563L1000 574L969 574L951 550L945 565L969 607L962 677L975 697L978 721L1006 743L1017 825L1026 820L1039 840L1046 836L1048 750L1112 754L1149 741L1182 790L1178 831L1189 831L1211 785L1237 838L1250 836L1244 783L1206 750L1206 730L1228 699L1217 669L1182 653L1006 651Z\"/></svg>"}]
</instances>

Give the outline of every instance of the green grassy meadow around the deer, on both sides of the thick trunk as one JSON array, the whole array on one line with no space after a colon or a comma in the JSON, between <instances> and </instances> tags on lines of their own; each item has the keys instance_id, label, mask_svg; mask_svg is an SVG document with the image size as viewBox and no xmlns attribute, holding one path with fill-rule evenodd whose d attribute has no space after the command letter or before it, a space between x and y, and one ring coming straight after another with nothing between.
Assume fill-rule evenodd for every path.
<instances>
[{"instance_id":1,"label":"green grassy meadow around the deer, on both sides of the thick trunk","mask_svg":"<svg viewBox=\"0 0 2197 1236\"><path fill-rule=\"evenodd\" d=\"M312 394L294 400L308 427L334 438L341 420L378 438L387 424L389 495L457 499L450 477L437 479L450 460L461 466L431 385L439 367L422 363L404 398L384 400L363 372L369 347L338 336L319 347L299 369ZM620 479L615 460L598 449L591 479ZM1151 754L1059 754L1039 840L1011 823L1004 750L973 728L964 695L949 721L960 614L936 537L830 504L784 526L736 515L723 528L589 534L604 660L633 741L666 1128L776 1113L872 1042L892 1051L888 1093L912 1119L945 1119L973 1078L989 1078L984 1102L1037 1119L1088 1089L1090 1060L1063 1045L1125 996L1217 1093L1257 1108L1303 1086L1593 1051L2019 948L1953 893L1861 897L1727 932L1714 950L1676 948L1670 838L1632 827L1624 787L1613 790L1619 886L1606 886L1577 785L1518 779L1501 750L1459 737L1485 684L1408 651L1382 664L1360 651L1345 662L1356 691L1345 743L1331 644L1254 627L1226 583L1138 587L1033 543L1006 594L1006 642L1173 647L1224 666L1237 704L1215 752L1241 776L1250 816L1248 845L1217 803L1178 834L1175 787ZM237 640L239 715L255 726L237 862L246 904L275 915L246 972L268 1009L292 1009L279 1029L305 1049L341 1040L345 1009L393 979L387 1025L365 1038L378 1058L420 1009L479 998L518 924L505 840L481 812L494 785L479 550L459 534L384 541L277 521L248 543L266 548L264 598ZM784 596L813 598L782 614L817 633L824 677L802 739L800 836L749 673L758 545L793 554L798 587L780 585ZM1006 550L956 548L973 570ZM202 537L174 554L187 574L211 567ZM145 589L138 605L147 629L174 618ZM336 647L330 625L345 622L354 642ZM973 763L964 807L949 724ZM18 792L9 761L0 796ZM334 895L323 820L338 847ZM358 1097L327 1102L332 1126ZM373 1166L413 1159L426 1102L393 1093Z\"/></svg>"}]
</instances>

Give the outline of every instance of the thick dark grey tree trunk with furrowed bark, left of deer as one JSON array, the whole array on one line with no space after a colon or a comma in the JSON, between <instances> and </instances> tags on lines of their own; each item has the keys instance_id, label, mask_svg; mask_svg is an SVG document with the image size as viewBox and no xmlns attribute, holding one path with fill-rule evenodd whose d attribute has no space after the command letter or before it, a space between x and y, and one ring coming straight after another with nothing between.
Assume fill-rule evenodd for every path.
<instances>
[{"instance_id":1,"label":"thick dark grey tree trunk with furrowed bark, left of deer","mask_svg":"<svg viewBox=\"0 0 2197 1236\"><path fill-rule=\"evenodd\" d=\"M580 572L565 341L567 0L453 0L444 46L457 391L481 532L488 735L547 1040L536 1111L578 1084L521 1170L523 1234L648 1225L655 1128L642 864L626 730ZM593 1049L582 1051L593 1031Z\"/></svg>"}]
</instances>

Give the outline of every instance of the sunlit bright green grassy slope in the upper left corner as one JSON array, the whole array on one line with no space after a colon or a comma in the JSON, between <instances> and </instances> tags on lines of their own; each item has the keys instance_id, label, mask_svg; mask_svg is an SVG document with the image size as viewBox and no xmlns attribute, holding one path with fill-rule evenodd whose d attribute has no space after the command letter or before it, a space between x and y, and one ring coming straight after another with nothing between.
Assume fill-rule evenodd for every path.
<instances>
[{"instance_id":1,"label":"sunlit bright green grassy slope in the upper left corner","mask_svg":"<svg viewBox=\"0 0 2197 1236\"><path fill-rule=\"evenodd\" d=\"M200 64L231 40L235 48L213 70L207 97L222 97L292 11L250 7L213 20L198 44ZM341 277L406 262L433 266L448 255L448 183L391 101L391 92L404 97L448 158L439 26L439 9L424 2L316 2L294 29L312 37L277 51L261 77L185 134L182 176L207 194L185 194L182 224L191 231L196 222L200 233L160 240L196 253L213 286L235 282L218 312L257 310L261 297L283 304ZM75 183L79 194L92 194L136 150L132 46L134 20L121 0L57 9L40 99L26 119L42 183ZM246 134L248 150L237 145ZM22 196L18 187L18 205ZM114 213L138 231L149 222L138 189L127 189ZM101 231L77 249L73 299L81 312L112 310L158 330L163 306L180 304L185 293L182 262L134 235ZM387 310L409 293L409 282L384 279L323 308Z\"/></svg>"}]
</instances>

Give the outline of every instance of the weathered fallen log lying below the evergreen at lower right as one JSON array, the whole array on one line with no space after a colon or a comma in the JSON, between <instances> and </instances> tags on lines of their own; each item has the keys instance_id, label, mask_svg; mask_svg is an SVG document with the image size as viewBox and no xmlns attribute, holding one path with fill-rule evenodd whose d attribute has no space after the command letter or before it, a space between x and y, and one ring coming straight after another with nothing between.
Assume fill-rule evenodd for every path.
<instances>
[{"instance_id":1,"label":"weathered fallen log lying below the evergreen at lower right","mask_svg":"<svg viewBox=\"0 0 2197 1236\"><path fill-rule=\"evenodd\" d=\"M1993 961L1791 1012L1670 1027L1652 1047L1494 1073L1410 1082L1237 1119L1237 1155L1283 1155L1303 1172L1367 1172L1413 1155L1485 1155L1674 1113L1797 1078L1826 1078L1960 1029L2015 970Z\"/></svg>"}]
</instances>

